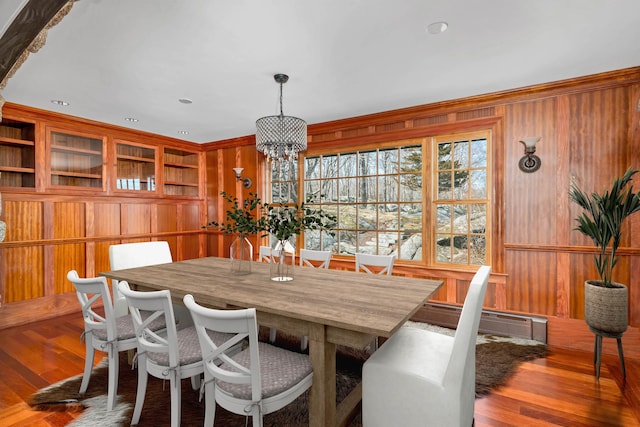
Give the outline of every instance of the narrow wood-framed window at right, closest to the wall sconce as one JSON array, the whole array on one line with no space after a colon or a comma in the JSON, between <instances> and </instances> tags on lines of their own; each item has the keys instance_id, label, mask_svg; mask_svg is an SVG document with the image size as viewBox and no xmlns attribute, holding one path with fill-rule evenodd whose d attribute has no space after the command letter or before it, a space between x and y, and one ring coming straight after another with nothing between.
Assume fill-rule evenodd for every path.
<instances>
[{"instance_id":1,"label":"narrow wood-framed window at right, closest to the wall sconce","mask_svg":"<svg viewBox=\"0 0 640 427\"><path fill-rule=\"evenodd\" d=\"M434 261L437 264L482 265L489 239L490 133L474 132L435 138Z\"/></svg>"}]
</instances>

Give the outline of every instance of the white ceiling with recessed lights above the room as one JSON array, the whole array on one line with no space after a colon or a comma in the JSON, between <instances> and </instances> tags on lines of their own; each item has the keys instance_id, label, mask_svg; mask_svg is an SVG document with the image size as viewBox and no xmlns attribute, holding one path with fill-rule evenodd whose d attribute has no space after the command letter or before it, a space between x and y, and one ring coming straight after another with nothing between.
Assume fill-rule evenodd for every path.
<instances>
[{"instance_id":1,"label":"white ceiling with recessed lights above the room","mask_svg":"<svg viewBox=\"0 0 640 427\"><path fill-rule=\"evenodd\" d=\"M276 73L314 124L639 66L639 41L638 0L78 0L2 96L204 143L277 114Z\"/></svg>"}]
</instances>

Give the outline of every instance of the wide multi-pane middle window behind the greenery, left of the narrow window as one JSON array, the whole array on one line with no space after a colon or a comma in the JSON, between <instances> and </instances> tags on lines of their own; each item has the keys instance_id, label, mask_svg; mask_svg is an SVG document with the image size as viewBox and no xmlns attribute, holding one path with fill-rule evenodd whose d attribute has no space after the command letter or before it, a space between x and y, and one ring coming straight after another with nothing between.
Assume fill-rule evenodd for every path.
<instances>
[{"instance_id":1,"label":"wide multi-pane middle window behind the greenery, left of the narrow window","mask_svg":"<svg viewBox=\"0 0 640 427\"><path fill-rule=\"evenodd\" d=\"M305 247L423 258L422 141L304 159L305 200L338 217L335 235L305 233Z\"/></svg>"}]
</instances>

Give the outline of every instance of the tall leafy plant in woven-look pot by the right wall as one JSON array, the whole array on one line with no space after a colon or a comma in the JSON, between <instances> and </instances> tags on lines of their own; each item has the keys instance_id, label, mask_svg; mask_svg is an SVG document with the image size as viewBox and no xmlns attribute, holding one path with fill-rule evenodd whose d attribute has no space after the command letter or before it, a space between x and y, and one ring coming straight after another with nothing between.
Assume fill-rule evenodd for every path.
<instances>
[{"instance_id":1,"label":"tall leafy plant in woven-look pot by the right wall","mask_svg":"<svg viewBox=\"0 0 640 427\"><path fill-rule=\"evenodd\" d=\"M626 188L638 171L629 168L613 181L611 189L602 194L587 194L575 184L570 199L584 209L576 221L575 230L593 240L598 247L595 265L599 280L585 282L585 321L593 332L622 334L628 326L628 289L614 282L613 269L618 263L618 247L624 220L640 210L640 193L633 185Z\"/></svg>"}]
</instances>

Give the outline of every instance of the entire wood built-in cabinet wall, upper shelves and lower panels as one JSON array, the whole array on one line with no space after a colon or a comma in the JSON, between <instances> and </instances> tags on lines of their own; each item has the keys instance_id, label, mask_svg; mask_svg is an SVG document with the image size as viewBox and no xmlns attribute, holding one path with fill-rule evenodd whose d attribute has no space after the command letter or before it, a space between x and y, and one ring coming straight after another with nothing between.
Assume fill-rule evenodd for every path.
<instances>
[{"instance_id":1,"label":"entire wood built-in cabinet wall, upper shelves and lower panels","mask_svg":"<svg viewBox=\"0 0 640 427\"><path fill-rule=\"evenodd\" d=\"M0 309L58 301L73 292L69 270L109 270L113 244L164 240L177 261L206 255L199 144L10 103L2 113Z\"/></svg>"}]
</instances>

